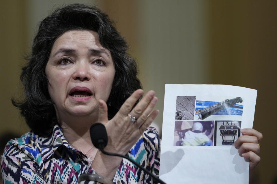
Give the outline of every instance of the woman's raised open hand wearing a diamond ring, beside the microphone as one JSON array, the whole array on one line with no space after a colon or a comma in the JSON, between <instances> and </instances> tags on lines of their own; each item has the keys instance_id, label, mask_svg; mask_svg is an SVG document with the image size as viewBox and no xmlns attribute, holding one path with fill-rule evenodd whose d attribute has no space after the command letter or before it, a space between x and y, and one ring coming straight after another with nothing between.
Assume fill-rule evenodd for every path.
<instances>
[{"instance_id":1,"label":"woman's raised open hand wearing a diamond ring, beside the microphone","mask_svg":"<svg viewBox=\"0 0 277 184\"><path fill-rule=\"evenodd\" d=\"M158 110L153 111L158 100L154 91L146 93L133 108L141 95L143 90L136 90L111 120L108 120L106 103L99 100L98 121L105 124L108 133L105 151L126 154L158 115Z\"/></svg>"}]
</instances>

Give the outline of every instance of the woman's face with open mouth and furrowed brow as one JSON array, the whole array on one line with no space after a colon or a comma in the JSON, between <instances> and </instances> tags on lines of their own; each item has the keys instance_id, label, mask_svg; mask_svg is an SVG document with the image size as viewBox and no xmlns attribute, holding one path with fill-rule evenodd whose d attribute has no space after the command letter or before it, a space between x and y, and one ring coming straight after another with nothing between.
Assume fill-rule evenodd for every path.
<instances>
[{"instance_id":1,"label":"woman's face with open mouth and furrowed brow","mask_svg":"<svg viewBox=\"0 0 277 184\"><path fill-rule=\"evenodd\" d=\"M98 100L107 101L115 67L96 32L71 30L54 42L45 72L59 116L98 115Z\"/></svg>"}]
</instances>

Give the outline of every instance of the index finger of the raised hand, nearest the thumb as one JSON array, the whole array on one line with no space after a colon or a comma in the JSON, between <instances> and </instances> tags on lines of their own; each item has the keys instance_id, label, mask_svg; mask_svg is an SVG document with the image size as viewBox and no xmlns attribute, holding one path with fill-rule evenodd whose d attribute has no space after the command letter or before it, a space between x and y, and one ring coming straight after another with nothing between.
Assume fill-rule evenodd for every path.
<instances>
[{"instance_id":1,"label":"index finger of the raised hand, nearest the thumb","mask_svg":"<svg viewBox=\"0 0 277 184\"><path fill-rule=\"evenodd\" d=\"M132 110L136 101L143 95L143 90L138 89L124 102L118 111L118 114L122 117L126 117L128 113Z\"/></svg>"}]
</instances>

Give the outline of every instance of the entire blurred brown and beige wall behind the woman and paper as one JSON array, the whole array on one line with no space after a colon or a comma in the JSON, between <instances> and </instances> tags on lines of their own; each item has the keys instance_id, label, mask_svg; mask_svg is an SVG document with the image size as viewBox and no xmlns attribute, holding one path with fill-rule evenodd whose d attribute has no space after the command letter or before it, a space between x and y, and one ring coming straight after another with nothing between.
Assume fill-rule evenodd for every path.
<instances>
[{"instance_id":1,"label":"entire blurred brown and beige wall behind the woman and paper","mask_svg":"<svg viewBox=\"0 0 277 184\"><path fill-rule=\"evenodd\" d=\"M74 2L74 1L70 1ZM76 2L76 1L75 1ZM80 2L80 1L77 1ZM161 126L165 83L227 84L258 89L254 128L264 135L260 183L277 177L276 1L81 1L106 11L126 37L145 90L159 98ZM10 97L20 95L22 55L36 22L68 1L3 1L1 4L0 134L27 127ZM197 74L196 72L197 71ZM161 129L160 129L161 131Z\"/></svg>"}]
</instances>

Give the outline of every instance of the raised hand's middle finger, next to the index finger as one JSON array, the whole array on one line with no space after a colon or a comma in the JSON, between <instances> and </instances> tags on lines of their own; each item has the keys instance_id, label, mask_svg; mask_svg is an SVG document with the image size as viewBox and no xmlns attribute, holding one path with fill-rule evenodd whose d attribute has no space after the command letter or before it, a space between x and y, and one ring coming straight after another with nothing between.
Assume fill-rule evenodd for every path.
<instances>
[{"instance_id":1,"label":"raised hand's middle finger, next to the index finger","mask_svg":"<svg viewBox=\"0 0 277 184\"><path fill-rule=\"evenodd\" d=\"M134 116L135 118L138 118L139 116L141 116L141 113L145 110L147 105L151 102L151 100L153 99L154 95L155 95L155 91L153 91L153 90L148 91L146 93L146 95L144 95L144 97L141 99L141 101L139 101L139 103L136 104L134 109L130 112L130 115ZM148 115L149 114L147 114L147 116ZM146 118L147 118L147 116L146 116Z\"/></svg>"}]
</instances>

